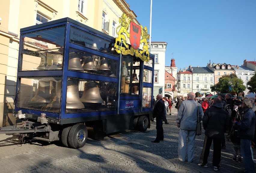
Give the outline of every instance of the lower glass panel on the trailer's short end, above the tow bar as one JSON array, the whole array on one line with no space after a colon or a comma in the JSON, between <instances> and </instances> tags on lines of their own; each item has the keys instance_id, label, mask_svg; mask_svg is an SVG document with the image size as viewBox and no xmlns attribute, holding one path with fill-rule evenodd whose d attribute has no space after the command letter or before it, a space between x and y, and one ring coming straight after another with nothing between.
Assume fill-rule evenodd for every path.
<instances>
[{"instance_id":1,"label":"lower glass panel on the trailer's short end, above the tow bar","mask_svg":"<svg viewBox=\"0 0 256 173\"><path fill-rule=\"evenodd\" d=\"M62 77L20 78L17 107L60 112Z\"/></svg>"}]
</instances>

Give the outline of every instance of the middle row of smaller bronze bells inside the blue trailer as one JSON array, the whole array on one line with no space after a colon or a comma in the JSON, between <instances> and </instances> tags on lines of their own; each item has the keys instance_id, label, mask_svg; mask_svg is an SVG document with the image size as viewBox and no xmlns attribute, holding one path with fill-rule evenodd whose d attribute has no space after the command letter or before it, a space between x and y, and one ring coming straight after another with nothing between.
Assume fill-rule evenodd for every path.
<instances>
[{"instance_id":1,"label":"middle row of smaller bronze bells inside the blue trailer","mask_svg":"<svg viewBox=\"0 0 256 173\"><path fill-rule=\"evenodd\" d=\"M52 65L46 66L47 65L47 57L46 56L41 56L41 63L37 67L37 69L40 70L59 70L62 69L62 61L63 61L63 56L62 55L54 55L53 56L53 62ZM100 66L99 68L96 69L96 66L94 64L95 61L95 56L93 55L92 57L86 57L84 60L84 65L83 67L81 66L81 61L80 58L77 57L77 54L75 53L70 53L69 54L69 70L77 70L77 71L97 71L97 70L109 70L110 68L108 67L108 60L102 59L100 61Z\"/></svg>"}]
</instances>

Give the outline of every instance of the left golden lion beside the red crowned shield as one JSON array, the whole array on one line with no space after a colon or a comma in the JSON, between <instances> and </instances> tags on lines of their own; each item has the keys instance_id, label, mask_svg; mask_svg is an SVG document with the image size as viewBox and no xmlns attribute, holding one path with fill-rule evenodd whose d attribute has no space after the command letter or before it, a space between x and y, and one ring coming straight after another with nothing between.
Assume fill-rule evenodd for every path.
<instances>
[{"instance_id":1,"label":"left golden lion beside the red crowned shield","mask_svg":"<svg viewBox=\"0 0 256 173\"><path fill-rule=\"evenodd\" d=\"M114 47L115 48L119 48L120 44L121 44L121 40L123 40L123 44L125 45L126 49L129 48L129 46L126 44L126 38L125 38L125 35L123 35L123 33L125 33L127 35L128 38L130 38L130 34L127 32L128 28L129 28L129 25L131 23L131 19L128 20L128 22L126 22L126 19L127 19L127 15L126 14L122 14L122 17L119 18L119 23L121 23L121 28L119 30L119 32L117 32L117 29L120 27L118 26L117 29L116 29L116 32L118 34L118 37L116 38L116 42L114 44ZM119 45L117 45L117 42L119 42Z\"/></svg>"}]
</instances>

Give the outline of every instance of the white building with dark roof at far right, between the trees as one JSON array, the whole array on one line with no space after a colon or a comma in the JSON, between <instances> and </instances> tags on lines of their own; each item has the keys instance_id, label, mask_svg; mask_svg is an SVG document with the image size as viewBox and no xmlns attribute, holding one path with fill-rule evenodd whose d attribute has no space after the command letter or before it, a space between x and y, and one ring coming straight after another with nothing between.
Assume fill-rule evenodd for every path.
<instances>
[{"instance_id":1,"label":"white building with dark roof at far right, between the trees","mask_svg":"<svg viewBox=\"0 0 256 173\"><path fill-rule=\"evenodd\" d=\"M254 70L252 70L249 67L245 67L245 66L238 66L236 65L235 67L232 67L232 69L235 70L236 76L239 79L242 79L242 81L244 82L243 84L246 86L245 91L243 91L243 93L239 93L241 94L241 96L245 96L248 94L249 90L248 90L248 85L247 82L251 79L251 77L254 75Z\"/></svg>"}]
</instances>

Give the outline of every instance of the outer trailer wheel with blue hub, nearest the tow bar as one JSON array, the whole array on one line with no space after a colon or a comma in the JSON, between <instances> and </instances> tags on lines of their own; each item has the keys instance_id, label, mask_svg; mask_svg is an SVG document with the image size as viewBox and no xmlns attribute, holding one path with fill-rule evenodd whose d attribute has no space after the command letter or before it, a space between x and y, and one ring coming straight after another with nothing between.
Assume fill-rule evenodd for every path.
<instances>
[{"instance_id":1,"label":"outer trailer wheel with blue hub, nearest the tow bar","mask_svg":"<svg viewBox=\"0 0 256 173\"><path fill-rule=\"evenodd\" d=\"M85 145L87 141L87 128L82 124L76 124L72 126L69 131L69 146L71 148L81 148Z\"/></svg>"}]
</instances>

